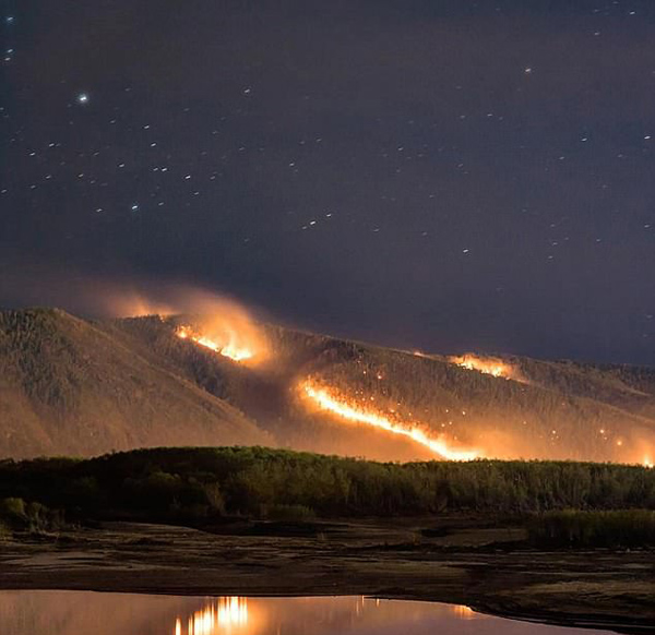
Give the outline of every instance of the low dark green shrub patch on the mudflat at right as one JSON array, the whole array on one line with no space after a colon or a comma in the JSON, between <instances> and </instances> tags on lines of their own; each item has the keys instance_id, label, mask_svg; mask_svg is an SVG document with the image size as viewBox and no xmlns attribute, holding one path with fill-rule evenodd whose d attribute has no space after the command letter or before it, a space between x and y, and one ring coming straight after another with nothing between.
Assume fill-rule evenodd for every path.
<instances>
[{"instance_id":1,"label":"low dark green shrub patch on the mudflat at right","mask_svg":"<svg viewBox=\"0 0 655 635\"><path fill-rule=\"evenodd\" d=\"M528 526L538 547L655 546L655 512L651 510L548 512Z\"/></svg>"}]
</instances>

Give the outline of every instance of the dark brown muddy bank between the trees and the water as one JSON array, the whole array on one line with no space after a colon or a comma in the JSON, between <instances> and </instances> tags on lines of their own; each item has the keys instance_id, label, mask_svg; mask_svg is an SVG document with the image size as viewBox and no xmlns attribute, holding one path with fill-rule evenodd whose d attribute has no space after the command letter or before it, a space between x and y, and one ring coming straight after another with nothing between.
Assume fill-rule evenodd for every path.
<instances>
[{"instance_id":1,"label":"dark brown muddy bank between the trees and the water","mask_svg":"<svg viewBox=\"0 0 655 635\"><path fill-rule=\"evenodd\" d=\"M420 519L370 519L245 524L209 532L108 523L58 536L16 535L0 547L0 588L367 595L653 632L653 551L538 551L526 547L520 527L425 527Z\"/></svg>"}]
</instances>

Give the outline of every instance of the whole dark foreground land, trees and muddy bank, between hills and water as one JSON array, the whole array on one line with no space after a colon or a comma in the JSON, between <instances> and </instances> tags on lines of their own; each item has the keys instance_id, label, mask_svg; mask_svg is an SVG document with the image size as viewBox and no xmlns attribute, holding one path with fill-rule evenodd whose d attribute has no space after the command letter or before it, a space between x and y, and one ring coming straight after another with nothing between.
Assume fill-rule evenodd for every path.
<instances>
[{"instance_id":1,"label":"whole dark foreground land, trees and muddy bank, between hills and water","mask_svg":"<svg viewBox=\"0 0 655 635\"><path fill-rule=\"evenodd\" d=\"M655 470L166 448L0 462L0 587L371 595L652 633Z\"/></svg>"}]
</instances>

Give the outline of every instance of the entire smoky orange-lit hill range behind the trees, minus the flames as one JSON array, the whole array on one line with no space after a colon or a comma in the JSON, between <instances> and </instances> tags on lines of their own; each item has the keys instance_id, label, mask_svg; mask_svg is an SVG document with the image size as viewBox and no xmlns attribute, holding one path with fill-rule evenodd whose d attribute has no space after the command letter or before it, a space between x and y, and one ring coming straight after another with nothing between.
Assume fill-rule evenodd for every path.
<instances>
[{"instance_id":1,"label":"entire smoky orange-lit hill range behind the trees, minus the flames","mask_svg":"<svg viewBox=\"0 0 655 635\"><path fill-rule=\"evenodd\" d=\"M489 372L502 369L504 376L493 376L475 370L477 361L463 368L448 356L274 325L259 325L269 351L249 366L176 335L194 320L0 313L0 455L262 444L385 460L437 457L321 410L302 390L311 382L481 456L653 460L655 369L478 359Z\"/></svg>"}]
</instances>

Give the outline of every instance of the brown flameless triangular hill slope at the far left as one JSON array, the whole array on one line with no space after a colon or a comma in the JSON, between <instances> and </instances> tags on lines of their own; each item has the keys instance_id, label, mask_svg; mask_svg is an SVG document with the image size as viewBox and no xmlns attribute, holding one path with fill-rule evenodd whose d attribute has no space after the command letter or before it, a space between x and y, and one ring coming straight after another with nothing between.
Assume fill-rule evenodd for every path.
<instances>
[{"instance_id":1,"label":"brown flameless triangular hill slope at the far left","mask_svg":"<svg viewBox=\"0 0 655 635\"><path fill-rule=\"evenodd\" d=\"M0 455L272 443L233 406L59 310L0 312Z\"/></svg>"}]
</instances>

